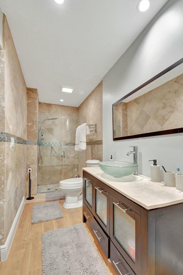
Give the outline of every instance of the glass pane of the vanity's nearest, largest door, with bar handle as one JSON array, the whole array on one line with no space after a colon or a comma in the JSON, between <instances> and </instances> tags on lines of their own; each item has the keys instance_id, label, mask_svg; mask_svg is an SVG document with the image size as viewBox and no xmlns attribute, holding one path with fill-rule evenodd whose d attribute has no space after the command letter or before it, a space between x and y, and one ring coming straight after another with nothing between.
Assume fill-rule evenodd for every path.
<instances>
[{"instance_id":1,"label":"glass pane of the vanity's nearest, largest door, with bar handle","mask_svg":"<svg viewBox=\"0 0 183 275\"><path fill-rule=\"evenodd\" d=\"M113 201L114 238L135 263L135 213L122 202Z\"/></svg>"}]
</instances>

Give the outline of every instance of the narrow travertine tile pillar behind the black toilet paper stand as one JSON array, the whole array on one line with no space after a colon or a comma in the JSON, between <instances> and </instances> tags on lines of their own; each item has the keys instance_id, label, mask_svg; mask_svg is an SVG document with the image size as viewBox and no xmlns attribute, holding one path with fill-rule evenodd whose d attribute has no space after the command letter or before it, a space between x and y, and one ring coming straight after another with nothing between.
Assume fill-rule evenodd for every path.
<instances>
[{"instance_id":1,"label":"narrow travertine tile pillar behind the black toilet paper stand","mask_svg":"<svg viewBox=\"0 0 183 275\"><path fill-rule=\"evenodd\" d=\"M27 88L27 170L31 167L31 196L37 194L37 89ZM29 195L29 173L26 178L26 196Z\"/></svg>"}]
</instances>

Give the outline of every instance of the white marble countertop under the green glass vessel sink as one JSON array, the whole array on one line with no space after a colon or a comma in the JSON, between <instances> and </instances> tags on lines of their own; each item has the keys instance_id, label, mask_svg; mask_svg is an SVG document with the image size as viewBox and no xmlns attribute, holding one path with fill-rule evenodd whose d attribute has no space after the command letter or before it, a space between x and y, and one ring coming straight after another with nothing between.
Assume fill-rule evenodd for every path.
<instances>
[{"instance_id":1,"label":"white marble countertop under the green glass vessel sink","mask_svg":"<svg viewBox=\"0 0 183 275\"><path fill-rule=\"evenodd\" d=\"M165 186L164 182L152 182L151 178L143 175L115 178L104 173L100 167L87 167L82 170L147 210L183 202L182 191Z\"/></svg>"}]
</instances>

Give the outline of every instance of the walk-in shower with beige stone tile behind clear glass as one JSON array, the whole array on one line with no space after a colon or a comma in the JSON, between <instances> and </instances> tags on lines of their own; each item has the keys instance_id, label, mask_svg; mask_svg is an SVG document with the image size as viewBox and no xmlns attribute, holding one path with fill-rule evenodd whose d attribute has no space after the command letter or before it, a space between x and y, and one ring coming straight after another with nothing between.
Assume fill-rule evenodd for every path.
<instances>
[{"instance_id":1,"label":"walk-in shower with beige stone tile behind clear glass","mask_svg":"<svg viewBox=\"0 0 183 275\"><path fill-rule=\"evenodd\" d=\"M86 117L39 112L38 118L37 193L45 193L60 190L60 180L74 178L84 167L86 152L75 151L75 131Z\"/></svg>"}]
</instances>

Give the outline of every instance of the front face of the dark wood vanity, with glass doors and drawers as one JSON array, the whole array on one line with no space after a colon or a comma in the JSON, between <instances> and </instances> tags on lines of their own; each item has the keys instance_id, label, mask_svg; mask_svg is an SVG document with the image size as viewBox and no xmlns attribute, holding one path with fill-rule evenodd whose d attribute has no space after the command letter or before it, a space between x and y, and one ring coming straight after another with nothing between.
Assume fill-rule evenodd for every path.
<instances>
[{"instance_id":1,"label":"front face of the dark wood vanity, with glass doors and drawers","mask_svg":"<svg viewBox=\"0 0 183 275\"><path fill-rule=\"evenodd\" d=\"M141 207L84 171L83 222L119 274L141 274Z\"/></svg>"}]
</instances>

